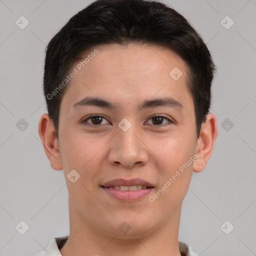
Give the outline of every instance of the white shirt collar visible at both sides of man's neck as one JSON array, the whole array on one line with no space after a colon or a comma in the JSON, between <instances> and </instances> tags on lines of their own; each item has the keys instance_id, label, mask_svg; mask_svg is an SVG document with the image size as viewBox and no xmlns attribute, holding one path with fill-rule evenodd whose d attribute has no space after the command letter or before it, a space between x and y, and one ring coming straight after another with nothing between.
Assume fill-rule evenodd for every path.
<instances>
[{"instance_id":1,"label":"white shirt collar visible at both sides of man's neck","mask_svg":"<svg viewBox=\"0 0 256 256\"><path fill-rule=\"evenodd\" d=\"M40 251L32 256L62 256L59 249L65 244L68 235L61 237L53 237L46 250ZM178 241L179 251L182 256L198 256L192 251L189 244L185 242Z\"/></svg>"}]
</instances>

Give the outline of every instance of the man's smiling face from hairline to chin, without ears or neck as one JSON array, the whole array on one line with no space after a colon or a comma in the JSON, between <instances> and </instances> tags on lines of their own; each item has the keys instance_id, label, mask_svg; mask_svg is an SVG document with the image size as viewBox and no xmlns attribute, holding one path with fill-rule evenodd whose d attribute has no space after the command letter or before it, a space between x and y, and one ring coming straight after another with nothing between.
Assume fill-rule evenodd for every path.
<instances>
[{"instance_id":1,"label":"man's smiling face from hairline to chin, without ears or neck","mask_svg":"<svg viewBox=\"0 0 256 256\"><path fill-rule=\"evenodd\" d=\"M179 216L190 182L198 141L186 65L158 46L95 48L84 67L72 67L78 72L60 105L69 207L97 231L121 236L127 227L126 235L139 237ZM71 182L70 173L73 181L80 176Z\"/></svg>"}]
</instances>

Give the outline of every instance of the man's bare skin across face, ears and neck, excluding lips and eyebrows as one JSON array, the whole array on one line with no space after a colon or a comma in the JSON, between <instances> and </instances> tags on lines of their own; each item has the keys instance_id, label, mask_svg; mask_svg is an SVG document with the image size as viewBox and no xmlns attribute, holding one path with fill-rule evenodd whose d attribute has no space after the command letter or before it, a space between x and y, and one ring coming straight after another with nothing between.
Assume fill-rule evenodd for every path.
<instances>
[{"instance_id":1,"label":"man's bare skin across face, ears and neck, excluding lips and eyebrows","mask_svg":"<svg viewBox=\"0 0 256 256\"><path fill-rule=\"evenodd\" d=\"M48 114L39 120L44 151L53 169L63 169L69 192L70 234L60 252L64 256L180 256L181 203L192 171L202 171L210 158L217 134L216 117L207 114L196 138L186 65L171 50L145 44L96 48L99 52L72 78L63 95L58 139ZM169 75L173 67L183 73L178 80ZM103 98L118 108L73 107L85 96ZM145 99L166 96L178 100L183 108L157 106L137 110ZM90 114L100 114L105 119L101 123L98 119L87 120L87 125L82 123ZM150 119L152 114L161 114L164 119L157 122ZM118 126L123 118L131 124L126 131ZM200 156L150 202L148 197L197 151ZM72 169L80 174L74 183L67 178ZM113 178L135 177L154 186L150 194L136 201L115 199L100 187ZM131 227L127 233L118 228L123 221Z\"/></svg>"}]
</instances>

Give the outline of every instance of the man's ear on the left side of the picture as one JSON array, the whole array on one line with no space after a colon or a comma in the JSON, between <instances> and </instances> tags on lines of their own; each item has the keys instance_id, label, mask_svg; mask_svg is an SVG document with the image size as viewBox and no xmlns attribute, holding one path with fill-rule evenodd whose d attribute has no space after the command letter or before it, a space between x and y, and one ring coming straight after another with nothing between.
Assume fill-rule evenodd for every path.
<instances>
[{"instance_id":1,"label":"man's ear on the left side of the picture","mask_svg":"<svg viewBox=\"0 0 256 256\"><path fill-rule=\"evenodd\" d=\"M50 166L55 170L62 170L63 166L55 128L47 113L44 113L40 117L38 133L42 141L44 152L50 161Z\"/></svg>"}]
</instances>

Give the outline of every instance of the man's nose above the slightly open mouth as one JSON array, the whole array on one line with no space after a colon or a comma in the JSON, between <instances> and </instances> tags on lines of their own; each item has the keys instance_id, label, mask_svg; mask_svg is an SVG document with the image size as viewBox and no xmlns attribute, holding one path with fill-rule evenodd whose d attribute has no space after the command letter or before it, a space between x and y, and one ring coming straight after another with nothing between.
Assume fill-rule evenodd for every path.
<instances>
[{"instance_id":1,"label":"man's nose above the slightly open mouth","mask_svg":"<svg viewBox=\"0 0 256 256\"><path fill-rule=\"evenodd\" d=\"M143 166L148 161L148 151L141 132L135 127L118 130L111 140L108 162L112 165L122 165L125 168Z\"/></svg>"}]
</instances>

